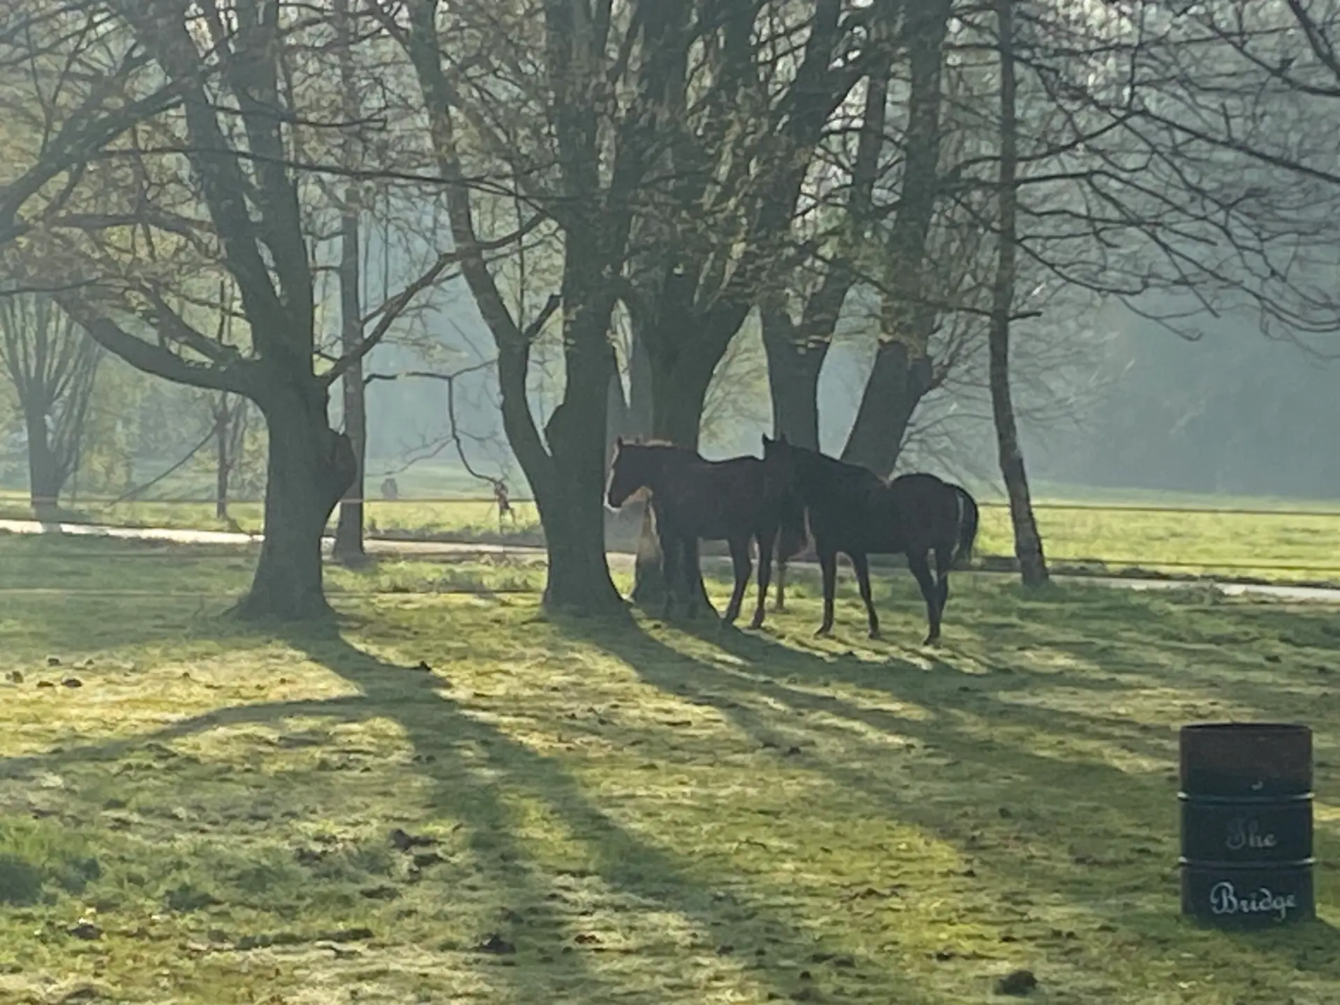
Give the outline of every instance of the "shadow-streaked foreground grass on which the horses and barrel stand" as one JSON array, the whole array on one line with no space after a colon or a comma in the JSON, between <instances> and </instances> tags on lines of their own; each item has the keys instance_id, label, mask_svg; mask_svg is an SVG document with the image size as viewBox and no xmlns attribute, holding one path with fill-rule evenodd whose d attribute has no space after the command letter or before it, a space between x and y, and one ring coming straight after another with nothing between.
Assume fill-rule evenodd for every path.
<instances>
[{"instance_id":1,"label":"shadow-streaked foreground grass on which the horses and barrel stand","mask_svg":"<svg viewBox=\"0 0 1340 1005\"><path fill-rule=\"evenodd\" d=\"M906 574L820 643L808 582L555 622L512 559L276 636L217 616L252 560L0 536L0 1001L1340 1001L1333 610L959 576L931 653ZM1178 915L1177 728L1227 717L1316 729L1316 925Z\"/></svg>"}]
</instances>

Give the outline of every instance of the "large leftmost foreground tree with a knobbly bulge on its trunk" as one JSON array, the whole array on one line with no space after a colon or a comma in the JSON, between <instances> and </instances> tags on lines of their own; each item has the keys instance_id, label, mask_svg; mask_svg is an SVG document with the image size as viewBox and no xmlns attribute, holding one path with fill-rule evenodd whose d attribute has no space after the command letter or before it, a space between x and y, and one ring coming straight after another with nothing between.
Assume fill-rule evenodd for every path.
<instances>
[{"instance_id":1,"label":"large leftmost foreground tree with a knobbly bulge on its trunk","mask_svg":"<svg viewBox=\"0 0 1340 1005\"><path fill-rule=\"evenodd\" d=\"M312 161L339 129L373 129L324 111L339 107L328 100L338 47L328 20L304 5L184 0L119 4L103 17L103 48L143 54L181 111L84 166L67 213L43 228L42 269L64 268L62 306L131 366L257 406L268 430L265 539L237 612L324 616L320 539L356 476L348 438L328 421L330 389L452 256L382 304L355 347L326 352L308 255L323 216ZM326 163L338 172L335 158ZM35 256L23 265L36 275ZM210 334L228 310L212 293L221 276L239 293L240 344Z\"/></svg>"}]
</instances>

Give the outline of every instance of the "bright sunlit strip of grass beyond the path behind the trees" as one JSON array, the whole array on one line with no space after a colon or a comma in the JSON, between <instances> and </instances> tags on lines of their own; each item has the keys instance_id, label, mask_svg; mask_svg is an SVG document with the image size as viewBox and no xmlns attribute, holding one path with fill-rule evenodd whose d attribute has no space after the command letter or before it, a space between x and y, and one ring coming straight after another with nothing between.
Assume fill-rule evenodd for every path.
<instances>
[{"instance_id":1,"label":"bright sunlit strip of grass beyond the path behind the trees","mask_svg":"<svg viewBox=\"0 0 1340 1005\"><path fill-rule=\"evenodd\" d=\"M1118 501L1112 501L1118 500ZM1163 574L1284 582L1340 582L1340 513L1286 500L1221 500L1218 512L1199 497L1043 497L1037 519L1048 556L1059 565L1093 571L1144 570ZM1233 512L1233 511L1254 512ZM74 517L119 527L241 529L260 532L261 505L230 508L236 524L214 519L209 503L127 503L84 507ZM25 498L0 493L0 517L31 519ZM516 504L516 520L498 525L486 501L371 501L373 536L517 544L543 541L533 504ZM1009 513L984 505L980 557L1013 552Z\"/></svg>"}]
</instances>

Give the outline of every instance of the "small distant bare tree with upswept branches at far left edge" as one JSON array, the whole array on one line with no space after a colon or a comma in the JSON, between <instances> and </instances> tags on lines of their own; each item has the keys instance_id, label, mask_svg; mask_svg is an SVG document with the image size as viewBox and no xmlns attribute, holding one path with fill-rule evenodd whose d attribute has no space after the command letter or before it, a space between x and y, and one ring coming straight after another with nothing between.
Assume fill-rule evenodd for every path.
<instances>
[{"instance_id":1,"label":"small distant bare tree with upswept branches at far left edge","mask_svg":"<svg viewBox=\"0 0 1340 1005\"><path fill-rule=\"evenodd\" d=\"M58 512L79 469L100 359L98 344L50 297L0 296L0 363L23 413L28 494L39 517Z\"/></svg>"}]
</instances>

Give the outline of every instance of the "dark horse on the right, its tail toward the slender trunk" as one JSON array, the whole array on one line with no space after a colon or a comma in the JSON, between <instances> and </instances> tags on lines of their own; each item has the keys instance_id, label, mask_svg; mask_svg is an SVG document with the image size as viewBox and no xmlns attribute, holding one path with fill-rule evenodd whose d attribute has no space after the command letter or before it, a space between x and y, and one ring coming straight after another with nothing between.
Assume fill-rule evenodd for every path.
<instances>
[{"instance_id":1,"label":"dark horse on the right, its tail toward the slender trunk","mask_svg":"<svg viewBox=\"0 0 1340 1005\"><path fill-rule=\"evenodd\" d=\"M870 595L867 555L906 555L926 598L930 632L939 638L941 615L949 600L949 571L972 555L977 539L977 503L966 489L934 474L903 474L884 481L874 472L825 457L817 450L793 446L787 438L762 438L765 465L777 465L776 477L793 478L795 493L805 507L824 578L824 622L817 635L833 627L833 588L838 553L844 552L856 570L860 599L870 615L870 636L879 636L879 615ZM935 574L930 572L935 553Z\"/></svg>"}]
</instances>

